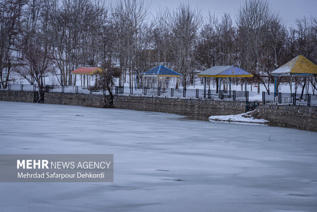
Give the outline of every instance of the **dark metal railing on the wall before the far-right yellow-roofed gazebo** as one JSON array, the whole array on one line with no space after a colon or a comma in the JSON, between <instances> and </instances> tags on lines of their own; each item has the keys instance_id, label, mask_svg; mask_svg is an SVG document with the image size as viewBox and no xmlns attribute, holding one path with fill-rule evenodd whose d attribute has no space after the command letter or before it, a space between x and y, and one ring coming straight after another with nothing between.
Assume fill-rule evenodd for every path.
<instances>
[{"instance_id":1,"label":"dark metal railing on the wall before the far-right yellow-roofed gazebo","mask_svg":"<svg viewBox=\"0 0 317 212\"><path fill-rule=\"evenodd\" d=\"M299 105L317 105L317 95L312 94L289 94L289 93L274 93L262 92L263 103L279 103L279 104L299 104Z\"/></svg>"}]
</instances>

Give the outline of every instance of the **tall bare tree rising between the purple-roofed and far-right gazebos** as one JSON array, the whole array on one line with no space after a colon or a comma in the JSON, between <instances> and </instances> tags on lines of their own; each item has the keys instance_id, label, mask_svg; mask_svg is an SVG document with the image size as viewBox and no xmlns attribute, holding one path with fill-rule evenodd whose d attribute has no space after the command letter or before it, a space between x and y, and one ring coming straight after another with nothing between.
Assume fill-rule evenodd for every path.
<instances>
[{"instance_id":1,"label":"tall bare tree rising between the purple-roofed and far-right gazebos","mask_svg":"<svg viewBox=\"0 0 317 212\"><path fill-rule=\"evenodd\" d=\"M263 59L267 58L272 51L268 39L268 29L272 19L278 20L277 14L273 13L267 0L246 0L236 16L236 22L240 35L240 60L242 68L254 74L260 82L263 71ZM244 51L242 51L242 49Z\"/></svg>"}]
</instances>

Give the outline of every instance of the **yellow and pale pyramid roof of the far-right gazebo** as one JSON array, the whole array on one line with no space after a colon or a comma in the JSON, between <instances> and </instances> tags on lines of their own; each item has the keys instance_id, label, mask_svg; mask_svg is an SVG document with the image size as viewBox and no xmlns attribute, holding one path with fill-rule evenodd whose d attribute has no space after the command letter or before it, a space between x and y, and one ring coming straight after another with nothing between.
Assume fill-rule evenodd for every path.
<instances>
[{"instance_id":1,"label":"yellow and pale pyramid roof of the far-right gazebo","mask_svg":"<svg viewBox=\"0 0 317 212\"><path fill-rule=\"evenodd\" d=\"M317 75L317 66L302 55L298 55L271 73L272 75Z\"/></svg>"}]
</instances>

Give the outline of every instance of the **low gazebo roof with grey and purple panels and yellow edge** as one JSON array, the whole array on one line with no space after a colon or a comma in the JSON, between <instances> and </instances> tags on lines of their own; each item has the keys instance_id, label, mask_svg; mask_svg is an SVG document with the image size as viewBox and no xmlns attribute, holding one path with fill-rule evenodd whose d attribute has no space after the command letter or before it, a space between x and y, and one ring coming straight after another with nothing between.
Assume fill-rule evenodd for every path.
<instances>
[{"instance_id":1,"label":"low gazebo roof with grey and purple panels and yellow edge","mask_svg":"<svg viewBox=\"0 0 317 212\"><path fill-rule=\"evenodd\" d=\"M214 66L198 74L200 77L253 77L253 74L235 66Z\"/></svg>"}]
</instances>

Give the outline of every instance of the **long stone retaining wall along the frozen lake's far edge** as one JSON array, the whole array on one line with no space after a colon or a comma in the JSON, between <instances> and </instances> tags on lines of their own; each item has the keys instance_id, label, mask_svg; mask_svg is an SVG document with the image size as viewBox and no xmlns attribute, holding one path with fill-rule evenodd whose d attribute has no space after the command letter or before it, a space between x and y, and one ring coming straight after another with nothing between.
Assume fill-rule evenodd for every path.
<instances>
[{"instance_id":1,"label":"long stone retaining wall along the frozen lake's far edge","mask_svg":"<svg viewBox=\"0 0 317 212\"><path fill-rule=\"evenodd\" d=\"M38 92L0 91L0 100L37 102ZM84 107L110 108L109 96L45 93L44 103L69 104ZM244 101L211 101L188 98L164 98L148 96L114 97L113 108L137 111L153 111L187 116L196 120L208 120L212 115L231 115L245 112ZM272 125L317 131L317 107L299 105L261 104L260 118L270 121Z\"/></svg>"}]
</instances>

